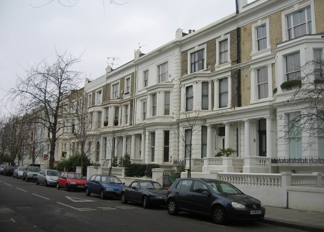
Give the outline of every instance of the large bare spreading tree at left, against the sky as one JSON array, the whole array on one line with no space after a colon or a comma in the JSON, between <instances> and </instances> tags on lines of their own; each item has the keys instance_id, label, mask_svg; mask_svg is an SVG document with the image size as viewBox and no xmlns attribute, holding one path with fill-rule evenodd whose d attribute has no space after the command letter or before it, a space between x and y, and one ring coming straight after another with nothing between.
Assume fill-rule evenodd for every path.
<instances>
[{"instance_id":1,"label":"large bare spreading tree at left, against the sky","mask_svg":"<svg viewBox=\"0 0 324 232\"><path fill-rule=\"evenodd\" d=\"M48 130L50 142L50 168L54 167L54 152L62 126L58 121L64 117L66 102L63 99L77 88L80 72L70 70L80 61L72 55L59 55L49 64L46 60L25 69L26 76L18 76L16 87L9 91L9 99L17 102L26 114L37 111L28 123L41 124Z\"/></svg>"}]
</instances>

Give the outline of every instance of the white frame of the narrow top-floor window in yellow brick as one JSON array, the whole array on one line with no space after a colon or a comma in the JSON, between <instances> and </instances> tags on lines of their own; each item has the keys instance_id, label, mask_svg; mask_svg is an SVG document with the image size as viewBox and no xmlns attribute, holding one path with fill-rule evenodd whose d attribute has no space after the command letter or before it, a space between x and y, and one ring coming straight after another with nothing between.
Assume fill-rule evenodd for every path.
<instances>
[{"instance_id":1,"label":"white frame of the narrow top-floor window in yellow brick","mask_svg":"<svg viewBox=\"0 0 324 232\"><path fill-rule=\"evenodd\" d=\"M267 33L267 47L263 50L258 51L258 28L262 27L262 26L266 26L266 33ZM259 55L262 54L264 55L264 53L268 54L271 53L271 46L270 46L270 31L269 31L269 19L265 19L265 20L258 20L257 23L252 25L252 58L253 55Z\"/></svg>"}]
</instances>

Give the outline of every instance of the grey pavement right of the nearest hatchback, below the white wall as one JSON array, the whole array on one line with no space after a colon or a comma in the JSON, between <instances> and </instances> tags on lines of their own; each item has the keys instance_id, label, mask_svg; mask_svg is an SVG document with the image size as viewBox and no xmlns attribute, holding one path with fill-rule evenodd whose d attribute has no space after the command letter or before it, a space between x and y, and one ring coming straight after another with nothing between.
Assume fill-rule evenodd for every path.
<instances>
[{"instance_id":1,"label":"grey pavement right of the nearest hatchback, below the white wall","mask_svg":"<svg viewBox=\"0 0 324 232\"><path fill-rule=\"evenodd\" d=\"M322 203L320 203L322 204ZM265 206L262 222L307 231L324 231L324 212Z\"/></svg>"}]
</instances>

